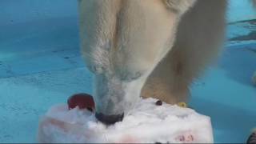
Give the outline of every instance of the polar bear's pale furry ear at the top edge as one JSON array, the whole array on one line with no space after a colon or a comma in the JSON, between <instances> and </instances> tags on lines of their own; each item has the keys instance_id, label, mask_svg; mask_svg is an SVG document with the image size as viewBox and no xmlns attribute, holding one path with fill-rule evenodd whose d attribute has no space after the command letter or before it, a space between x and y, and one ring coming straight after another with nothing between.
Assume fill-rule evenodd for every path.
<instances>
[{"instance_id":1,"label":"polar bear's pale furry ear at the top edge","mask_svg":"<svg viewBox=\"0 0 256 144\"><path fill-rule=\"evenodd\" d=\"M194 6L197 0L162 0L166 7L175 13L184 14L186 10Z\"/></svg>"}]
</instances>

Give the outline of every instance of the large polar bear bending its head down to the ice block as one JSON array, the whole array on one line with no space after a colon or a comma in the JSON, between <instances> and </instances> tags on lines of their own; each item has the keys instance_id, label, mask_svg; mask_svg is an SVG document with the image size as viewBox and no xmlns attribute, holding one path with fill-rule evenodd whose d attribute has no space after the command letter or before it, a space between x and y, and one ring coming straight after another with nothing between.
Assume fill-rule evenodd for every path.
<instances>
[{"instance_id":1,"label":"large polar bear bending its head down to the ice block","mask_svg":"<svg viewBox=\"0 0 256 144\"><path fill-rule=\"evenodd\" d=\"M225 0L80 0L82 55L94 73L97 114L127 114L140 96L186 102L191 82L218 57L226 5Z\"/></svg>"}]
</instances>

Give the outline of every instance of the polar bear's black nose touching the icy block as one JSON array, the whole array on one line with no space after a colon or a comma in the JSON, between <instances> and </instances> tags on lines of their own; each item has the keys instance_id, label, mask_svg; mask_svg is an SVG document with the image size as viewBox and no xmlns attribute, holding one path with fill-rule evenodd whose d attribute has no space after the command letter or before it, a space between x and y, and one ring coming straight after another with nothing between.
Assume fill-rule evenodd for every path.
<instances>
[{"instance_id":1,"label":"polar bear's black nose touching the icy block","mask_svg":"<svg viewBox=\"0 0 256 144\"><path fill-rule=\"evenodd\" d=\"M115 122L121 122L124 114L118 114L118 115L105 115L102 113L96 113L95 117L102 123L106 125L112 125Z\"/></svg>"}]
</instances>

